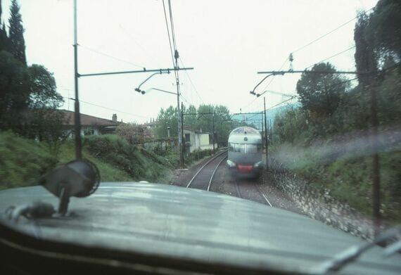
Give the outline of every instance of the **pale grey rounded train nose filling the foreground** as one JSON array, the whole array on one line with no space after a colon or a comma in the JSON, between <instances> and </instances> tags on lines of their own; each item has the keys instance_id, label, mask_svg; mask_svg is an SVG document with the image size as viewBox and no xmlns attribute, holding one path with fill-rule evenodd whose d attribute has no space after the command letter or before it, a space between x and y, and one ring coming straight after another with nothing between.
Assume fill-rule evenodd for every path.
<instances>
[{"instance_id":1,"label":"pale grey rounded train nose filling the foreground","mask_svg":"<svg viewBox=\"0 0 401 275\"><path fill-rule=\"evenodd\" d=\"M0 191L0 211L41 200L42 186ZM102 183L72 198L69 217L1 223L36 238L238 267L310 273L364 241L302 215L222 194L166 184ZM38 233L39 232L39 233ZM401 257L373 248L340 274L400 274Z\"/></svg>"}]
</instances>

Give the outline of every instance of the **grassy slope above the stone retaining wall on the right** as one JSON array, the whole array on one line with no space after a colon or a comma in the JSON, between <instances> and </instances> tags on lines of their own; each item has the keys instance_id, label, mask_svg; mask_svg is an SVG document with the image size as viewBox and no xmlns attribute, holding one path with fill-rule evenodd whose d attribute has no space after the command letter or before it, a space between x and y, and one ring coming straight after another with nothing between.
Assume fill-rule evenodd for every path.
<instances>
[{"instance_id":1,"label":"grassy slope above the stone retaining wall on the right","mask_svg":"<svg viewBox=\"0 0 401 275\"><path fill-rule=\"evenodd\" d=\"M307 184L331 193L359 212L372 215L372 157L367 151L337 154L331 143L319 146L281 144L274 146L272 157ZM401 222L401 150L379 154L381 177L381 213L393 224Z\"/></svg>"}]
</instances>

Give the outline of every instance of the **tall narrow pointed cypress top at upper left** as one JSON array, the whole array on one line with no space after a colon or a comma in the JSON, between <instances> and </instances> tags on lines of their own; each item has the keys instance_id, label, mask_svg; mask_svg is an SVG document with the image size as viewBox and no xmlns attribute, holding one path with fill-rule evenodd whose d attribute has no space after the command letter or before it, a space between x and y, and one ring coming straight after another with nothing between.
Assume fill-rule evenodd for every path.
<instances>
[{"instance_id":1,"label":"tall narrow pointed cypress top at upper left","mask_svg":"<svg viewBox=\"0 0 401 275\"><path fill-rule=\"evenodd\" d=\"M8 20L8 23L10 24L8 37L11 44L11 53L13 53L15 58L26 65L27 58L25 56L23 20L21 18L20 6L18 5L17 0L11 1L10 19Z\"/></svg>"}]
</instances>

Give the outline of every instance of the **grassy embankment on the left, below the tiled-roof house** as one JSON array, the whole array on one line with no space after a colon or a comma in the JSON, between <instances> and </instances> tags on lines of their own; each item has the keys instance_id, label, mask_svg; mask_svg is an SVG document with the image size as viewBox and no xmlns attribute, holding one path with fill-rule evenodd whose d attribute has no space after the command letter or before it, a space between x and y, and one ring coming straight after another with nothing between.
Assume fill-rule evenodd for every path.
<instances>
[{"instance_id":1,"label":"grassy embankment on the left, below the tiled-roof house","mask_svg":"<svg viewBox=\"0 0 401 275\"><path fill-rule=\"evenodd\" d=\"M0 189L36 185L56 165L74 160L74 148L68 140L54 153L44 143L0 132ZM82 153L98 167L101 181L167 182L172 168L167 159L114 135L84 138Z\"/></svg>"}]
</instances>

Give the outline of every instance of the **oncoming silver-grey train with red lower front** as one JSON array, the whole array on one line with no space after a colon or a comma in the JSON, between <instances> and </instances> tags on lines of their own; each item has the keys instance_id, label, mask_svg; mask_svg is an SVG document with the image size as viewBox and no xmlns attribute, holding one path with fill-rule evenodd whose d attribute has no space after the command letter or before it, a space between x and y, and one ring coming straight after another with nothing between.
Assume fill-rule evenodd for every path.
<instances>
[{"instance_id":1,"label":"oncoming silver-grey train with red lower front","mask_svg":"<svg viewBox=\"0 0 401 275\"><path fill-rule=\"evenodd\" d=\"M227 165L236 174L259 177L263 169L262 136L252 127L238 127L229 134Z\"/></svg>"}]
</instances>

